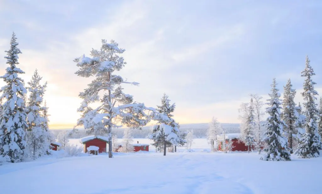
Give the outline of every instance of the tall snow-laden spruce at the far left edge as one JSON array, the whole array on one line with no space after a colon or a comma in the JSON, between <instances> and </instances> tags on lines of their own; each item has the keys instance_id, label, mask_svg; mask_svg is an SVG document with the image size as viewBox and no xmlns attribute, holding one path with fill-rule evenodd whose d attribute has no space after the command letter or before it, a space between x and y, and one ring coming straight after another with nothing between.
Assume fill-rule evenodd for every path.
<instances>
[{"instance_id":1,"label":"tall snow-laden spruce at the far left edge","mask_svg":"<svg viewBox=\"0 0 322 194\"><path fill-rule=\"evenodd\" d=\"M17 67L18 54L21 54L17 47L19 44L15 34L12 34L10 49L5 51L7 64L5 75L1 76L6 83L0 89L2 95L0 99L4 100L2 106L2 120L0 124L0 155L9 156L10 162L19 162L23 159L24 149L26 146L25 130L27 128L26 112L24 106L24 94L27 90L24 87L24 80L18 77L23 74Z\"/></svg>"}]
</instances>

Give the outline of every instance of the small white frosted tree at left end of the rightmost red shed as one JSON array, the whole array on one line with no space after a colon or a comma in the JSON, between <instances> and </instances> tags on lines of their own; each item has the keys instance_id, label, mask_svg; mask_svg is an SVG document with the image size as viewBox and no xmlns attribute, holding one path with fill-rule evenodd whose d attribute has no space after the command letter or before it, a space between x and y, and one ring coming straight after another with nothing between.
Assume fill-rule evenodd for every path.
<instances>
[{"instance_id":1,"label":"small white frosted tree at left end of the rightmost red shed","mask_svg":"<svg viewBox=\"0 0 322 194\"><path fill-rule=\"evenodd\" d=\"M207 129L207 139L211 145L211 150L218 150L218 142L217 142L217 135L221 134L222 127L220 122L218 122L217 118L213 117L211 122L209 123L209 128Z\"/></svg>"}]
</instances>

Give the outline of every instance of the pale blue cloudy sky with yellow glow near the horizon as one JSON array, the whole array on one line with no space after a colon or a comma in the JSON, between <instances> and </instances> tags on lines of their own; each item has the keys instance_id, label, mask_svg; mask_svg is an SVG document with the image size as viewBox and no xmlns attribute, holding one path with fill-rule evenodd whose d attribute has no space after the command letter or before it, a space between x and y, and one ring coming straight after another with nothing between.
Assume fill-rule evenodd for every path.
<instances>
[{"instance_id":1,"label":"pale blue cloudy sky with yellow glow near the horizon","mask_svg":"<svg viewBox=\"0 0 322 194\"><path fill-rule=\"evenodd\" d=\"M51 128L69 128L90 83L73 59L113 39L126 49L119 74L140 83L124 86L135 101L156 107L166 93L179 123L237 123L240 104L254 93L266 100L273 77L281 93L290 78L303 102L306 55L322 94L321 8L318 0L0 0L0 73L14 31L22 78L38 69Z\"/></svg>"}]
</instances>

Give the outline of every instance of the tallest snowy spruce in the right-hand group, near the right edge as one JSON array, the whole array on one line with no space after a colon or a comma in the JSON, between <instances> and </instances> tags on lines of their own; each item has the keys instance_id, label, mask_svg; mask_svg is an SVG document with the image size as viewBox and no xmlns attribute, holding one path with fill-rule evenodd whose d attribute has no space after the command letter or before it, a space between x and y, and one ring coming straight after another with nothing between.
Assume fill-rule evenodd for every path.
<instances>
[{"instance_id":1,"label":"tallest snowy spruce in the right-hand group, near the right edge","mask_svg":"<svg viewBox=\"0 0 322 194\"><path fill-rule=\"evenodd\" d=\"M303 103L306 117L304 125L305 133L299 140L295 154L301 158L318 157L320 155L319 150L322 149L321 136L318 134L317 127L318 110L317 104L315 103L315 100L317 99L316 95L318 94L317 91L314 90L314 85L316 83L312 80L312 76L315 75L315 73L310 65L308 56L306 56L305 69L301 73L301 76L306 78L303 83L304 92L301 93L305 100L305 103Z\"/></svg>"}]
</instances>

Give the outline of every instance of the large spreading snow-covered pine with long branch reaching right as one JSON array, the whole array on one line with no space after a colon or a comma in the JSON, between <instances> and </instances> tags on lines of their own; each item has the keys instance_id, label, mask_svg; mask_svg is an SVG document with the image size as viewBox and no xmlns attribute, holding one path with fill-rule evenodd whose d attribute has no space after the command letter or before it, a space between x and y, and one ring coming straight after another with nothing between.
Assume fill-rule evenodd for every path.
<instances>
[{"instance_id":1,"label":"large spreading snow-covered pine with long branch reaching right","mask_svg":"<svg viewBox=\"0 0 322 194\"><path fill-rule=\"evenodd\" d=\"M122 84L138 85L137 82L128 82L120 75L114 74L125 65L120 56L125 50L118 47L118 43L111 40L108 43L102 40L100 50L92 49L91 56L77 58L80 77L94 78L88 87L79 94L83 99L78 112L82 113L77 125L83 125L85 130L103 131L109 137L109 157L112 157L111 131L122 123L130 128L139 128L146 125L151 119L171 122L166 115L158 113L154 108L146 107L143 103L133 102L131 95L123 92ZM99 106L92 107L96 104ZM145 111L149 111L147 114Z\"/></svg>"}]
</instances>

